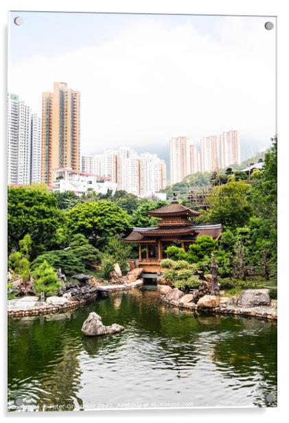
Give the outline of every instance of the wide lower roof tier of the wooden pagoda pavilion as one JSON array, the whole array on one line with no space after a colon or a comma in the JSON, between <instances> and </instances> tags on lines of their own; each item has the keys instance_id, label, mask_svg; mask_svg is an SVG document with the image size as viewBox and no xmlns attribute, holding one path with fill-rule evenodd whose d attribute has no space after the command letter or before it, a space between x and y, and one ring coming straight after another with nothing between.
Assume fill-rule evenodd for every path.
<instances>
[{"instance_id":1,"label":"wide lower roof tier of the wooden pagoda pavilion","mask_svg":"<svg viewBox=\"0 0 289 423\"><path fill-rule=\"evenodd\" d=\"M152 238L174 237L176 239L194 240L202 235L218 239L222 233L222 225L187 225L180 227L134 228L126 242L152 241Z\"/></svg>"}]
</instances>

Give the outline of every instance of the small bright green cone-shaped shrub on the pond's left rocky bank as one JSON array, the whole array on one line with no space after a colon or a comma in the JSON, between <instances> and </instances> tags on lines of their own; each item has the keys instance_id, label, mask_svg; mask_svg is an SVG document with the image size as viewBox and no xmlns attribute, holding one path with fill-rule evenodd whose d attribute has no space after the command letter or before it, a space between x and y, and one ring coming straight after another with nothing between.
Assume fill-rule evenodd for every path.
<instances>
[{"instance_id":1,"label":"small bright green cone-shaped shrub on the pond's left rocky bank","mask_svg":"<svg viewBox=\"0 0 289 423\"><path fill-rule=\"evenodd\" d=\"M44 260L33 272L34 282L33 288L36 294L40 295L45 293L46 297L56 295L58 288L62 286L62 283L58 280L58 277L46 260Z\"/></svg>"}]
</instances>

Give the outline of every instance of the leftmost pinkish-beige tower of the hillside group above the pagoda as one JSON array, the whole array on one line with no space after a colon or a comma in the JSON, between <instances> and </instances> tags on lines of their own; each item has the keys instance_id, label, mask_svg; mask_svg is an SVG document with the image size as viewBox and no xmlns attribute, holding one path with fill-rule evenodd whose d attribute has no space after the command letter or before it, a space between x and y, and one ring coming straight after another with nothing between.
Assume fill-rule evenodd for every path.
<instances>
[{"instance_id":1,"label":"leftmost pinkish-beige tower of the hillside group above the pagoda","mask_svg":"<svg viewBox=\"0 0 289 423\"><path fill-rule=\"evenodd\" d=\"M170 139L170 182L183 181L189 174L187 137Z\"/></svg>"}]
</instances>

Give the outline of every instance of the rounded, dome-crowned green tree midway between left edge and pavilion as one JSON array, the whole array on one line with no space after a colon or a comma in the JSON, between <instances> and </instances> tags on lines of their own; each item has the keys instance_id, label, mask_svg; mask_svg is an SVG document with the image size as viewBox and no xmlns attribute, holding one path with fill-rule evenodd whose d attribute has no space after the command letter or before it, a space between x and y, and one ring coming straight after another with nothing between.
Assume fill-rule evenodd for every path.
<instances>
[{"instance_id":1,"label":"rounded, dome-crowned green tree midway between left edge and pavilion","mask_svg":"<svg viewBox=\"0 0 289 423\"><path fill-rule=\"evenodd\" d=\"M82 233L94 247L114 236L122 237L132 228L130 216L111 201L82 203L67 212L69 231Z\"/></svg>"}]
</instances>

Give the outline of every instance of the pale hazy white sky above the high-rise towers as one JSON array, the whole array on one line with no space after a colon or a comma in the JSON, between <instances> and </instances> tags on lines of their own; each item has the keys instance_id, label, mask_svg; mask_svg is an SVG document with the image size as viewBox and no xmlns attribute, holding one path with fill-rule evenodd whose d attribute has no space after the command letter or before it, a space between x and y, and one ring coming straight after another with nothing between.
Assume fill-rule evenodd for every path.
<instances>
[{"instance_id":1,"label":"pale hazy white sky above the high-rise towers","mask_svg":"<svg viewBox=\"0 0 289 423\"><path fill-rule=\"evenodd\" d=\"M23 25L13 23L23 17ZM10 92L41 113L54 81L81 93L81 152L130 146L167 159L240 130L242 157L275 134L274 18L11 12Z\"/></svg>"}]
</instances>

